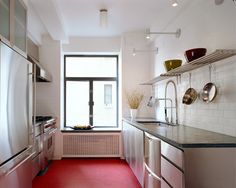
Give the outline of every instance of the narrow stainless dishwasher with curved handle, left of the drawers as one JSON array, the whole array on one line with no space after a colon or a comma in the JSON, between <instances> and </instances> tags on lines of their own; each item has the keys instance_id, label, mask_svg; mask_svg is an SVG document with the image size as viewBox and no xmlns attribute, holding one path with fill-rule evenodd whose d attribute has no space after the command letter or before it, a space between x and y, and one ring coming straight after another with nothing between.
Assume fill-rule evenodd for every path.
<instances>
[{"instance_id":1,"label":"narrow stainless dishwasher with curved handle, left of the drawers","mask_svg":"<svg viewBox=\"0 0 236 188\"><path fill-rule=\"evenodd\" d=\"M144 187L161 187L161 140L145 132L144 135Z\"/></svg>"}]
</instances>

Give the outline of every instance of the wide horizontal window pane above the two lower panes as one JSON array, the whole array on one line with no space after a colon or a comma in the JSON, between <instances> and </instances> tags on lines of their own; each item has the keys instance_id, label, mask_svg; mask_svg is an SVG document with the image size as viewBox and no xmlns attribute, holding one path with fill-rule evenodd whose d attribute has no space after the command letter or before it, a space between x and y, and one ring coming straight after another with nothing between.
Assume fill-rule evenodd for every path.
<instances>
[{"instance_id":1,"label":"wide horizontal window pane above the two lower panes","mask_svg":"<svg viewBox=\"0 0 236 188\"><path fill-rule=\"evenodd\" d=\"M66 57L66 77L116 77L116 57Z\"/></svg>"}]
</instances>

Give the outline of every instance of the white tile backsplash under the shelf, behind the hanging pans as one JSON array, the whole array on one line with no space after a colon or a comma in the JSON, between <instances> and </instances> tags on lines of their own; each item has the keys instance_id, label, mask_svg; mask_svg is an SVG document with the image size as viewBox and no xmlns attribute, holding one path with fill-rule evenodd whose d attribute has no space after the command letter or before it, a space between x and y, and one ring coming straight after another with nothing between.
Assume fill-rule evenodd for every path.
<instances>
[{"instance_id":1,"label":"white tile backsplash under the shelf, behind the hanging pans","mask_svg":"<svg viewBox=\"0 0 236 188\"><path fill-rule=\"evenodd\" d=\"M181 75L178 83L179 123L227 135L236 136L236 58L213 64L211 82L217 86L217 96L211 103L201 99L204 85L210 82L208 66L191 73L191 87L199 93L191 105L182 104L182 97L190 87L189 74ZM156 85L156 96L164 97L165 81ZM174 92L168 88L168 92ZM171 95L170 95L171 96ZM157 118L164 120L164 103L157 107Z\"/></svg>"}]
</instances>

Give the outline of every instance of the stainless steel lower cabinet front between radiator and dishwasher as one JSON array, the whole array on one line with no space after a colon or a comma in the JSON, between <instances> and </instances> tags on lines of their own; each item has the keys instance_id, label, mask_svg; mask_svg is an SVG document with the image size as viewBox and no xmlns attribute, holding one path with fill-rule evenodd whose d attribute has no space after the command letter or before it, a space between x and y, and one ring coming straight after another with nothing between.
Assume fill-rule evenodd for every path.
<instances>
[{"instance_id":1,"label":"stainless steel lower cabinet front between radiator and dishwasher","mask_svg":"<svg viewBox=\"0 0 236 188\"><path fill-rule=\"evenodd\" d=\"M123 141L125 159L143 187L143 131L123 121Z\"/></svg>"}]
</instances>

